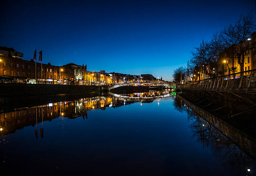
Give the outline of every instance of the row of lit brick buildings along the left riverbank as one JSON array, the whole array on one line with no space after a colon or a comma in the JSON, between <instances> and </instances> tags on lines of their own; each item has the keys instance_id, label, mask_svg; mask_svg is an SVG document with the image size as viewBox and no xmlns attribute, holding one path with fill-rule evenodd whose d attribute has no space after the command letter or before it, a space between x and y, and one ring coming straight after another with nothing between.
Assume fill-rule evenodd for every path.
<instances>
[{"instance_id":1,"label":"row of lit brick buildings along the left riverbank","mask_svg":"<svg viewBox=\"0 0 256 176\"><path fill-rule=\"evenodd\" d=\"M42 83L63 85L108 85L125 80L141 80L142 75L128 75L122 73L105 73L87 71L87 65L69 63L55 66L51 63L38 63L33 59L23 60L23 53L13 48L0 46L0 76L14 78L16 83ZM156 80L152 75L145 78Z\"/></svg>"}]
</instances>

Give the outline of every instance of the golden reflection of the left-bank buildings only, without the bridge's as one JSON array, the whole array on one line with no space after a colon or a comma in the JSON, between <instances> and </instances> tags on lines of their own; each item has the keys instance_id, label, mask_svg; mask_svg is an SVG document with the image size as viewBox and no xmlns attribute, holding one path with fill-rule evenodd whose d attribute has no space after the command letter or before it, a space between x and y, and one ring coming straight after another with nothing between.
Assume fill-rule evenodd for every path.
<instances>
[{"instance_id":1,"label":"golden reflection of the left-bank buildings only, without the bridge's","mask_svg":"<svg viewBox=\"0 0 256 176\"><path fill-rule=\"evenodd\" d=\"M126 102L130 104L133 102ZM16 108L11 112L0 113L0 135L14 133L25 126L35 126L42 121L51 121L58 117L77 118L87 117L87 111L93 109L105 110L106 107L117 108L124 106L124 101L113 96L98 96L81 98L75 101L48 103L40 106Z\"/></svg>"}]
</instances>

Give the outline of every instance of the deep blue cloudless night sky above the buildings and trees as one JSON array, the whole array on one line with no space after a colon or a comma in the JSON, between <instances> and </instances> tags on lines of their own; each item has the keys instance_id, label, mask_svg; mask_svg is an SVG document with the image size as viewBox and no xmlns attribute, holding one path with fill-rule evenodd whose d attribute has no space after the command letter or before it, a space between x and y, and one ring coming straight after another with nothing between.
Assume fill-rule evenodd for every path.
<instances>
[{"instance_id":1,"label":"deep blue cloudless night sky above the buildings and trees","mask_svg":"<svg viewBox=\"0 0 256 176\"><path fill-rule=\"evenodd\" d=\"M253 12L254 0L51 1L1 5L0 46L43 63L87 64L87 70L151 73L172 80L193 47L212 33ZM256 16L256 15L255 15Z\"/></svg>"}]
</instances>

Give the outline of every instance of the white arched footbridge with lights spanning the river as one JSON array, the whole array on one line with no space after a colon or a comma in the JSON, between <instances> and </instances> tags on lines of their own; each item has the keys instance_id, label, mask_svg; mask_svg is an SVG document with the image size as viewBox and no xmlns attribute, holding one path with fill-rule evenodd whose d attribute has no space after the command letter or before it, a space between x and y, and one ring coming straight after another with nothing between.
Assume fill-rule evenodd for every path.
<instances>
[{"instance_id":1,"label":"white arched footbridge with lights spanning the river","mask_svg":"<svg viewBox=\"0 0 256 176\"><path fill-rule=\"evenodd\" d=\"M175 83L169 81L162 81L162 80L131 80L131 81L122 81L115 84L108 86L108 90L118 88L121 86L127 85L135 85L135 86L162 86L162 87L171 87L176 88Z\"/></svg>"}]
</instances>

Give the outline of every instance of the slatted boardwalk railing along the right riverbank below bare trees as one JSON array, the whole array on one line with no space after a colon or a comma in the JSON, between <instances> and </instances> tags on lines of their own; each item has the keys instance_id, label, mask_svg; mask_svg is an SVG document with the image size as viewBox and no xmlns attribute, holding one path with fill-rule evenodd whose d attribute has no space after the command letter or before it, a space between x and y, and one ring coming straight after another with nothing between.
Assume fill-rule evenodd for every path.
<instances>
[{"instance_id":1,"label":"slatted boardwalk railing along the right riverbank below bare trees","mask_svg":"<svg viewBox=\"0 0 256 176\"><path fill-rule=\"evenodd\" d=\"M178 85L183 89L256 93L256 69Z\"/></svg>"}]
</instances>

